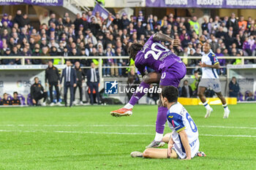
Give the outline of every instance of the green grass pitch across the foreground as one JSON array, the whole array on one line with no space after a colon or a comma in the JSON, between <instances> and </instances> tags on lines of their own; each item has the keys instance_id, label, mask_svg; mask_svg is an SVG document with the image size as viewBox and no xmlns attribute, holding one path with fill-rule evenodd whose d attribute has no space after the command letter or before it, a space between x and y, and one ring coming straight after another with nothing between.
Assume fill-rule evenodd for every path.
<instances>
[{"instance_id":1,"label":"green grass pitch across the foreground","mask_svg":"<svg viewBox=\"0 0 256 170\"><path fill-rule=\"evenodd\" d=\"M230 105L227 120L220 105L208 119L203 106L185 106L207 155L191 161L131 158L154 139L157 106L111 117L118 107L1 108L0 169L256 169L256 104Z\"/></svg>"}]
</instances>

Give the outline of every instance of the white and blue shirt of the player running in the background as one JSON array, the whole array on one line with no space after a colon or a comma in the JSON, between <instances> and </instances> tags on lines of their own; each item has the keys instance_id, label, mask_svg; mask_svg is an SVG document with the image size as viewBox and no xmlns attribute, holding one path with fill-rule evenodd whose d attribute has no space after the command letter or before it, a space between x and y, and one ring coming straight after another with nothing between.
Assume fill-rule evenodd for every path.
<instances>
[{"instance_id":1,"label":"white and blue shirt of the player running in the background","mask_svg":"<svg viewBox=\"0 0 256 170\"><path fill-rule=\"evenodd\" d=\"M206 63L207 65L215 65L219 63L216 55L211 51L208 54L204 54L202 59L202 63ZM211 69L210 67L203 67L202 68L202 79L218 79L219 75L217 74L216 69Z\"/></svg>"}]
</instances>

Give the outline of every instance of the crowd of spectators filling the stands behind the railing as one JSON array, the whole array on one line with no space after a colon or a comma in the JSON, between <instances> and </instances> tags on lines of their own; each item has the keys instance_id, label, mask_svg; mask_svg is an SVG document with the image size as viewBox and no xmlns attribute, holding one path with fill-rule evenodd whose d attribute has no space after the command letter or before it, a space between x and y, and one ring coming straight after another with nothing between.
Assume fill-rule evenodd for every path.
<instances>
[{"instance_id":1,"label":"crowd of spectators filling the stands behind the railing","mask_svg":"<svg viewBox=\"0 0 256 170\"><path fill-rule=\"evenodd\" d=\"M99 12L78 14L75 20L70 20L69 13L63 18L50 15L48 23L42 23L39 29L30 25L28 15L21 10L17 14L4 14L0 22L0 55L5 56L109 56L103 60L104 66L126 66L128 60L113 59L111 56L128 55L127 47L133 42L144 43L154 33L162 32L180 39L181 46L173 47L162 42L173 53L179 56L202 55L203 42L210 42L217 56L255 56L256 55L256 23L255 18L231 16L225 18L204 18L201 25L197 17L180 18L173 14L164 18L156 15L128 17L126 13L109 14L103 20ZM202 34L200 33L202 29ZM183 61L187 66L197 66L198 60ZM82 66L90 66L91 60L80 61ZM239 64L241 60L219 60L221 66L227 63ZM26 59L26 64L44 64L47 60ZM245 63L255 63L255 60L246 60ZM54 64L60 63L54 59ZM20 64L20 59L2 59L1 64ZM225 72L224 69L221 72ZM221 73L219 72L219 73ZM124 76L122 69L104 69L104 76Z\"/></svg>"}]
</instances>

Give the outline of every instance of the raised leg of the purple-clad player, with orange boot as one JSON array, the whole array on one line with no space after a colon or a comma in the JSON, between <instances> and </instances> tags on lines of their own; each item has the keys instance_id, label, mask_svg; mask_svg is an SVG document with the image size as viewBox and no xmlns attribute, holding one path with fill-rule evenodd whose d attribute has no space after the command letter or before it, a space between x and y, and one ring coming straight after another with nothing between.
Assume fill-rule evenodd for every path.
<instances>
[{"instance_id":1,"label":"raised leg of the purple-clad player, with orange boot","mask_svg":"<svg viewBox=\"0 0 256 170\"><path fill-rule=\"evenodd\" d=\"M143 76L143 81L140 82L139 89L149 88L151 83L159 83L160 76L161 75L156 72L146 74L145 76ZM128 104L126 104L121 109L117 109L110 112L110 115L116 117L132 115L132 108L135 106L135 104L138 103L140 98L142 98L144 95L144 90L138 90L138 92L133 93L132 98L129 100Z\"/></svg>"}]
</instances>

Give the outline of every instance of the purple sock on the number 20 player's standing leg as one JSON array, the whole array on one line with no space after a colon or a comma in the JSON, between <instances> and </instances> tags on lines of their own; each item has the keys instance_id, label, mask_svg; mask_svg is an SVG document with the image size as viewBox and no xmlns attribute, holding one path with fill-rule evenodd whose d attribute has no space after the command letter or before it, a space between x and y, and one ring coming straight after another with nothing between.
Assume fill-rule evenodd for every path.
<instances>
[{"instance_id":1,"label":"purple sock on the number 20 player's standing leg","mask_svg":"<svg viewBox=\"0 0 256 170\"><path fill-rule=\"evenodd\" d=\"M167 120L167 107L158 107L156 131L158 134L164 134L165 123Z\"/></svg>"}]
</instances>

